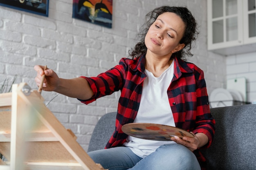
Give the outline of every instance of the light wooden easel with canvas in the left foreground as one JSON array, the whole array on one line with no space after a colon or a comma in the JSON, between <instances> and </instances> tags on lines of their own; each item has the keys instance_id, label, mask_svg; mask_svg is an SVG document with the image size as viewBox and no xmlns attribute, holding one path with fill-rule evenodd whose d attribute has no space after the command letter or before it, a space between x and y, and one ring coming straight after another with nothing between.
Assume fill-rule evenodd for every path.
<instances>
[{"instance_id":1,"label":"light wooden easel with canvas in the left foreground","mask_svg":"<svg viewBox=\"0 0 256 170\"><path fill-rule=\"evenodd\" d=\"M26 83L0 94L0 170L103 170Z\"/></svg>"}]
</instances>

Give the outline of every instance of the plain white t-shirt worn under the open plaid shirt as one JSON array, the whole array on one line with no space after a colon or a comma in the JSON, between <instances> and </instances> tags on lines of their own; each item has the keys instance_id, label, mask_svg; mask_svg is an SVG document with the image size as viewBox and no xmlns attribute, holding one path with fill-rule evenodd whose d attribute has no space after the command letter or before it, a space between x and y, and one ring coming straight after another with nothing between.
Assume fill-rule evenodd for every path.
<instances>
[{"instance_id":1,"label":"plain white t-shirt worn under the open plaid shirt","mask_svg":"<svg viewBox=\"0 0 256 170\"><path fill-rule=\"evenodd\" d=\"M167 89L174 75L174 64L172 62L159 77L145 70L147 75L143 83L139 110L134 123L154 123L174 126L172 110L168 101ZM124 143L139 157L146 157L154 152L159 146L175 143L174 141L153 141L128 136ZM176 143L175 143L176 144Z\"/></svg>"}]
</instances>

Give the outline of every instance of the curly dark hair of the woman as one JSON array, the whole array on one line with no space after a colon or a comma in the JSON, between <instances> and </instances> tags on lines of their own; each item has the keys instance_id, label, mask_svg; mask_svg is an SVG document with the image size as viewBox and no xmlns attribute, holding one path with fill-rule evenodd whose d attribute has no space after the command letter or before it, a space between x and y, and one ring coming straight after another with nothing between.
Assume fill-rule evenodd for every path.
<instances>
[{"instance_id":1,"label":"curly dark hair of the woman","mask_svg":"<svg viewBox=\"0 0 256 170\"><path fill-rule=\"evenodd\" d=\"M140 38L140 42L138 42L133 49L129 51L129 55L132 58L139 57L143 54L146 54L147 47L145 45L145 36L148 32L149 27L155 22L157 17L165 12L172 12L176 15L180 16L183 20L186 29L184 31L184 35L180 40L180 44L185 44L184 48L180 51L177 51L175 54L176 57L185 59L185 55L193 56L190 52L192 49L192 42L195 41L197 35L199 34L197 29L197 23L195 18L186 7L169 7L162 6L153 9L146 15L146 23L141 26L140 33L137 34L137 37Z\"/></svg>"}]
</instances>

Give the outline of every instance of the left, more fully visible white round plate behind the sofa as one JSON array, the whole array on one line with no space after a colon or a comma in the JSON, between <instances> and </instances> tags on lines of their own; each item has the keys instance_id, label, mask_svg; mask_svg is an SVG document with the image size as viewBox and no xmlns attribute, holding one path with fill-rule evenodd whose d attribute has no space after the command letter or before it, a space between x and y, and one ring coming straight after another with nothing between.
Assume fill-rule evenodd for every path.
<instances>
[{"instance_id":1,"label":"left, more fully visible white round plate behind the sofa","mask_svg":"<svg viewBox=\"0 0 256 170\"><path fill-rule=\"evenodd\" d=\"M233 97L227 89L216 88L211 92L209 102L212 108L232 106Z\"/></svg>"}]
</instances>

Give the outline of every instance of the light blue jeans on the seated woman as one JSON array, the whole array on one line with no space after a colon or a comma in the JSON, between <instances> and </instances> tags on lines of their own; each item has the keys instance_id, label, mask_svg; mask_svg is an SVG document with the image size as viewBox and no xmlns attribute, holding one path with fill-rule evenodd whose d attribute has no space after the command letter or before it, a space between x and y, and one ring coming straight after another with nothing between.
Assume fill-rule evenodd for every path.
<instances>
[{"instance_id":1,"label":"light blue jeans on the seated woman","mask_svg":"<svg viewBox=\"0 0 256 170\"><path fill-rule=\"evenodd\" d=\"M193 152L180 144L162 145L145 158L127 147L96 150L88 155L108 170L201 170Z\"/></svg>"}]
</instances>

